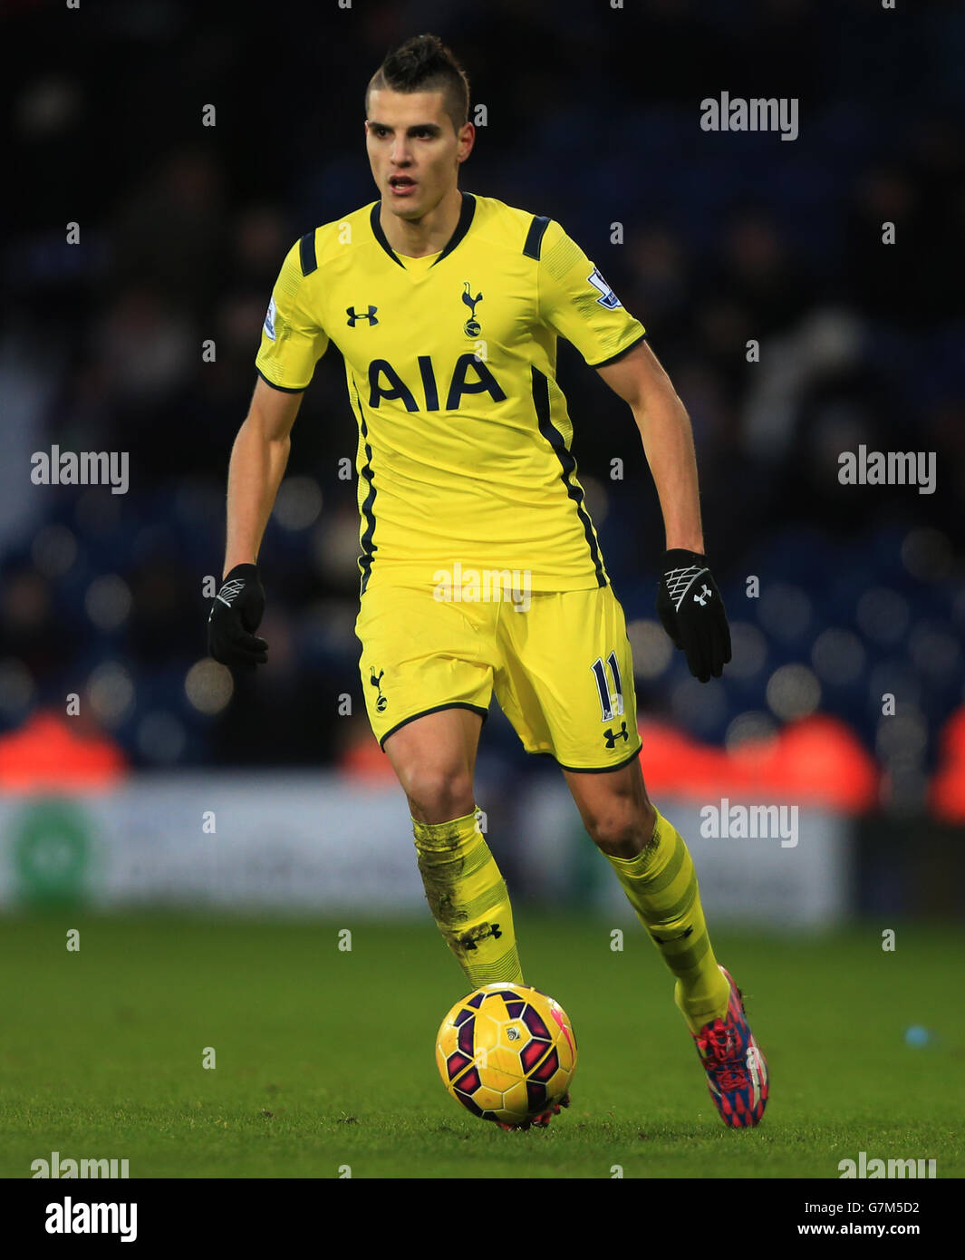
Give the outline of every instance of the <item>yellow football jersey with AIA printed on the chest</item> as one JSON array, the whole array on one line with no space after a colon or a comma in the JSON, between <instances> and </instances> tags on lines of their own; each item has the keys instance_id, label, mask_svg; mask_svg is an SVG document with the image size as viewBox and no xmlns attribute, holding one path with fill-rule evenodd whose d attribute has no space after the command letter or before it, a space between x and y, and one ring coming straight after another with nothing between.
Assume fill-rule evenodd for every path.
<instances>
[{"instance_id":1,"label":"yellow football jersey with AIA printed on the chest","mask_svg":"<svg viewBox=\"0 0 965 1260\"><path fill-rule=\"evenodd\" d=\"M645 336L558 223L462 193L437 255L397 255L379 203L296 242L256 359L300 392L330 341L359 426L362 591L373 564L515 571L532 591L606 586L556 382L557 336L591 367Z\"/></svg>"}]
</instances>

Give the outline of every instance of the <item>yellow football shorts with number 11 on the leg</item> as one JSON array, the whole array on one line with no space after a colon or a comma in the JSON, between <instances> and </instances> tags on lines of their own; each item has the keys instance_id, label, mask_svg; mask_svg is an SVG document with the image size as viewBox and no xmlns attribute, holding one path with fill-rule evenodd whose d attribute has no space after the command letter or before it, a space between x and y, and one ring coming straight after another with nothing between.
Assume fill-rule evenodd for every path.
<instances>
[{"instance_id":1,"label":"yellow football shorts with number 11 on the leg","mask_svg":"<svg viewBox=\"0 0 965 1260\"><path fill-rule=\"evenodd\" d=\"M485 719L493 692L527 752L564 770L617 770L640 752L624 610L608 586L436 598L372 573L355 622L372 730L443 708ZM489 592L490 596L493 592ZM520 611L517 611L517 607Z\"/></svg>"}]
</instances>

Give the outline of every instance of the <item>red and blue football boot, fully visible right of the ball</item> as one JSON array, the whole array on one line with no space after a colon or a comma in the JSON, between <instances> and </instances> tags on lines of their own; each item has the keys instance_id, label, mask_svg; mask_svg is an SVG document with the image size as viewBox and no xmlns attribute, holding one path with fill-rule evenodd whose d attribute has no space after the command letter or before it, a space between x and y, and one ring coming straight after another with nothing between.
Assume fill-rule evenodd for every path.
<instances>
[{"instance_id":1,"label":"red and blue football boot, fully visible right of the ball","mask_svg":"<svg viewBox=\"0 0 965 1260\"><path fill-rule=\"evenodd\" d=\"M721 1119L731 1129L752 1129L767 1105L767 1060L747 1023L741 990L729 971L721 971L731 985L727 1019L718 1017L690 1036Z\"/></svg>"}]
</instances>

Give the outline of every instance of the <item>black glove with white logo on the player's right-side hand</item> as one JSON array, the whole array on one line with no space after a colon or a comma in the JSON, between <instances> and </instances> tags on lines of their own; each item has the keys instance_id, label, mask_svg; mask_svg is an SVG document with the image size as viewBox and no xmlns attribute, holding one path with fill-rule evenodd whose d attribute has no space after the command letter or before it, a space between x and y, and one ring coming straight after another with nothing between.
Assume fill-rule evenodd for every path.
<instances>
[{"instance_id":1,"label":"black glove with white logo on the player's right-side hand","mask_svg":"<svg viewBox=\"0 0 965 1260\"><path fill-rule=\"evenodd\" d=\"M677 548L664 552L661 568L656 611L664 630L687 653L694 678L719 678L731 659L731 627L707 557Z\"/></svg>"}]
</instances>

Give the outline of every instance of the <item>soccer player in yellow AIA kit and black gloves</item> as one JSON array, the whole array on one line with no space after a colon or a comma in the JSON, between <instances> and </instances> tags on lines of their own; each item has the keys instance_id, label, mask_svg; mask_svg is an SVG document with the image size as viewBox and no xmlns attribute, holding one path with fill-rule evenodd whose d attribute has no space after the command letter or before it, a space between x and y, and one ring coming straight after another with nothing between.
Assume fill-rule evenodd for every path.
<instances>
[{"instance_id":1,"label":"soccer player in yellow AIA kit and black gloves","mask_svg":"<svg viewBox=\"0 0 965 1260\"><path fill-rule=\"evenodd\" d=\"M334 341L359 426L363 693L446 942L474 988L524 983L474 793L495 690L527 751L559 764L675 976L722 1119L756 1125L766 1063L711 948L687 845L644 788L630 643L576 476L557 336L630 406L666 536L658 611L707 682L731 635L687 412L642 325L558 223L459 189L475 140L469 82L435 35L385 58L365 112L379 200L301 237L268 305L228 471L212 655L267 660L258 549L302 393Z\"/></svg>"}]
</instances>

